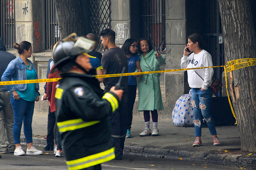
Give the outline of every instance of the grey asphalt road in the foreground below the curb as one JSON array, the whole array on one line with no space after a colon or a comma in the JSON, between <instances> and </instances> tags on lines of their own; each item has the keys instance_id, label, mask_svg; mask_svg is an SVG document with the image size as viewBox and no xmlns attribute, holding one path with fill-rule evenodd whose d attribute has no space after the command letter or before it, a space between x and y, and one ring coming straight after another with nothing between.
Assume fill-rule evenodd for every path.
<instances>
[{"instance_id":1,"label":"grey asphalt road in the foreground below the curb","mask_svg":"<svg viewBox=\"0 0 256 170\"><path fill-rule=\"evenodd\" d=\"M26 146L22 146L26 151ZM42 147L36 147L43 150ZM1 154L0 170L67 170L65 158L56 158L53 151L42 155L14 156ZM215 162L216 163L216 162ZM240 167L237 167L240 168ZM103 170L233 170L234 166L222 166L196 160L174 160L125 154L123 160L112 160L102 164Z\"/></svg>"}]
</instances>

